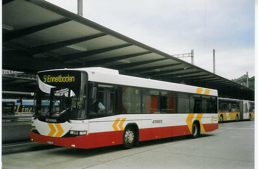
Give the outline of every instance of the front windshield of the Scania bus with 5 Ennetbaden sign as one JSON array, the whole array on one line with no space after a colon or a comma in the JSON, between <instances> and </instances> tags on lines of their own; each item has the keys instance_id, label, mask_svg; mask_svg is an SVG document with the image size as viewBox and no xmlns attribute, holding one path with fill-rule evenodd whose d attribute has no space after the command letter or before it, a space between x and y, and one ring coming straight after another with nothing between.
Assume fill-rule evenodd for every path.
<instances>
[{"instance_id":1,"label":"front windshield of the Scania bus with 5 Ennetbaden sign","mask_svg":"<svg viewBox=\"0 0 258 169\"><path fill-rule=\"evenodd\" d=\"M85 119L86 82L87 74L80 71L38 73L34 116Z\"/></svg>"}]
</instances>

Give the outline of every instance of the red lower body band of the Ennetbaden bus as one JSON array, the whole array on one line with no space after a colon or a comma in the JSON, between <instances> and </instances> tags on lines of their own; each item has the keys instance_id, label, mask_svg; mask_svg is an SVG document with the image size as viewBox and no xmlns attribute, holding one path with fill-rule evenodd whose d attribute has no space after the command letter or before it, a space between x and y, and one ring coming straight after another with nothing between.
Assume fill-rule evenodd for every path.
<instances>
[{"instance_id":1,"label":"red lower body band of the Ennetbaden bus","mask_svg":"<svg viewBox=\"0 0 258 169\"><path fill-rule=\"evenodd\" d=\"M211 132L218 128L218 123L203 124L205 132ZM34 132L30 132L31 139L35 142L47 143L47 141L54 142L54 145L89 149L94 147L110 146L115 144L122 144L123 130L112 132L89 133L85 136L77 136L71 138L57 138L42 136ZM139 129L139 141L152 140L158 138L174 137L191 134L187 125L170 126L170 127L156 127Z\"/></svg>"}]
</instances>

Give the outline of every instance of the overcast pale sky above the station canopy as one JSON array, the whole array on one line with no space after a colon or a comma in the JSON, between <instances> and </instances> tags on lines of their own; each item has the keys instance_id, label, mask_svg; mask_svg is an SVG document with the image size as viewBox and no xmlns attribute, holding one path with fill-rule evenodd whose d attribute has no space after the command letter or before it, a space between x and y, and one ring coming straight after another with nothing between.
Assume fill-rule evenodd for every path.
<instances>
[{"instance_id":1,"label":"overcast pale sky above the station canopy","mask_svg":"<svg viewBox=\"0 0 258 169\"><path fill-rule=\"evenodd\" d=\"M77 0L47 0L77 14ZM228 79L255 75L254 0L84 0L83 17ZM191 57L181 58L191 63Z\"/></svg>"}]
</instances>

